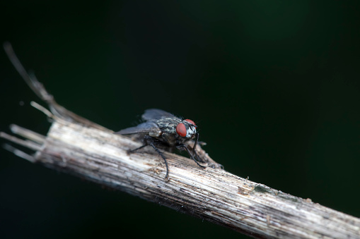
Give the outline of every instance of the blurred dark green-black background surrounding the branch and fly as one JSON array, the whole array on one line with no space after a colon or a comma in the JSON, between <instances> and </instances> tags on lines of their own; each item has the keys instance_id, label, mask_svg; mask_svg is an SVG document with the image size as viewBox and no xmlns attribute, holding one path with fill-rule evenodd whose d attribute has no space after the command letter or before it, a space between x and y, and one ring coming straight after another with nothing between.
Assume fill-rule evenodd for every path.
<instances>
[{"instance_id":1,"label":"blurred dark green-black background surrounding the branch and fly","mask_svg":"<svg viewBox=\"0 0 360 239\"><path fill-rule=\"evenodd\" d=\"M359 217L354 3L7 2L0 40L76 114L112 130L153 107L191 118L227 171ZM0 73L0 130L45 135L50 123L29 105L40 100L4 51ZM0 158L1 238L240 236L4 149Z\"/></svg>"}]
</instances>

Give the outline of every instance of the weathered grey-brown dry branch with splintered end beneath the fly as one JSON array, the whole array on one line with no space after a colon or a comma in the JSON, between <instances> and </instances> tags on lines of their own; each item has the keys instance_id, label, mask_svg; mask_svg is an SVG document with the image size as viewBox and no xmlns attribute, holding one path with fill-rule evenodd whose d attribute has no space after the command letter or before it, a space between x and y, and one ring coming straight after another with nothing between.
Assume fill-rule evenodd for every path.
<instances>
[{"instance_id":1,"label":"weathered grey-brown dry branch with splintered end beneath the fly","mask_svg":"<svg viewBox=\"0 0 360 239\"><path fill-rule=\"evenodd\" d=\"M16 57L7 51L10 58ZM59 106L21 68L18 71L30 79L32 89L47 99L53 115L47 114L53 122L46 136L17 125L11 125L11 131L26 140L0 134L35 151L31 156L6 146L19 157L257 238L360 238L360 219L234 176L217 167L203 151L213 168L202 169L190 159L165 153L170 169L166 182L166 168L151 149L127 154L127 149L140 143Z\"/></svg>"}]
</instances>

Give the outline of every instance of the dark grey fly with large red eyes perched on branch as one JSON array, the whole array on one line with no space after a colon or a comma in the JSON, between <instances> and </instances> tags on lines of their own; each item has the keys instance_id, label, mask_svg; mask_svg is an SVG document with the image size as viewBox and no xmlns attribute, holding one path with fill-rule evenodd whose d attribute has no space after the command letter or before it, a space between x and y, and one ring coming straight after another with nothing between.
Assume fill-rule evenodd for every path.
<instances>
[{"instance_id":1,"label":"dark grey fly with large red eyes perched on branch","mask_svg":"<svg viewBox=\"0 0 360 239\"><path fill-rule=\"evenodd\" d=\"M141 116L144 123L131 128L125 128L115 133L118 135L130 135L130 134L141 134L144 135L144 145L129 150L129 153L135 152L138 149L150 145L155 149L156 152L163 158L166 165L166 180L169 176L168 162L166 157L163 155L163 152L158 149L158 147L168 148L168 149L185 149L190 155L190 158L195 161L195 163L202 166L198 161L202 161L195 152L197 143L199 140L199 133L197 133L194 121L190 119L181 119L173 114L170 114L161 109L146 109L144 114ZM188 147L185 143L189 140L194 140L194 147Z\"/></svg>"}]
</instances>

